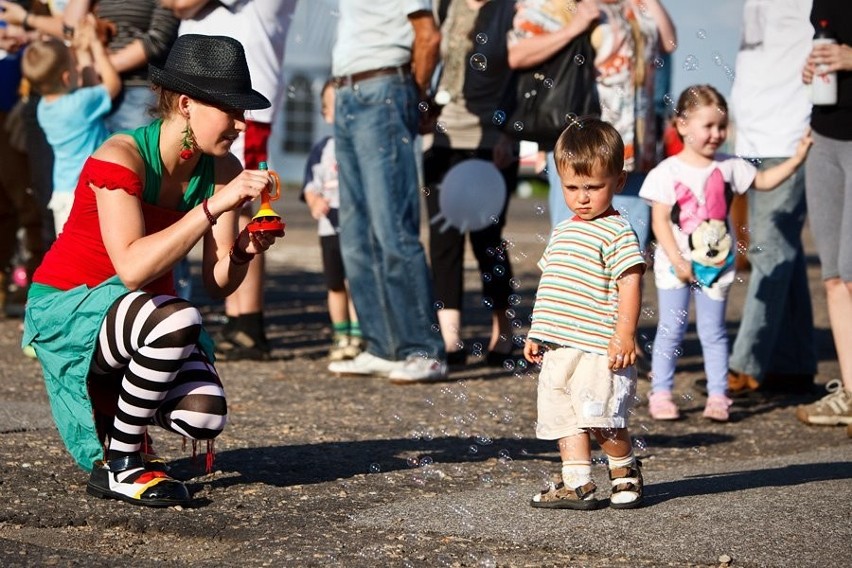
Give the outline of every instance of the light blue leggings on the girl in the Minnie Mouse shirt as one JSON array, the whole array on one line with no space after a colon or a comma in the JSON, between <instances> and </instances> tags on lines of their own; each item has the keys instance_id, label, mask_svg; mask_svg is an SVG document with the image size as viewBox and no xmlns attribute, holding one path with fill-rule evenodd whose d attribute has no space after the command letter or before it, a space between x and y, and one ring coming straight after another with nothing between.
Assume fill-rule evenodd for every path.
<instances>
[{"instance_id":1,"label":"light blue leggings on the girl in the Minnie Mouse shirt","mask_svg":"<svg viewBox=\"0 0 852 568\"><path fill-rule=\"evenodd\" d=\"M674 386L675 367L688 325L690 296L695 298L695 321L704 356L707 393L725 394L728 388L728 332L725 329L727 298L714 300L699 288L690 286L657 290L659 318L651 358L651 390L671 392Z\"/></svg>"}]
</instances>

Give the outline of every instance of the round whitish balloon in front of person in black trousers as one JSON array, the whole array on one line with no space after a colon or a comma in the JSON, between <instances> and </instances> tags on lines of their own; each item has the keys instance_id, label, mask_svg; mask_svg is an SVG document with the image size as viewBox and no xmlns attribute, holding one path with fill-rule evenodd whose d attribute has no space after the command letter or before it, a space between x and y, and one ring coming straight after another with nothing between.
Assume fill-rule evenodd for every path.
<instances>
[{"instance_id":1,"label":"round whitish balloon in front of person in black trousers","mask_svg":"<svg viewBox=\"0 0 852 568\"><path fill-rule=\"evenodd\" d=\"M441 182L438 203L441 212L432 223L445 223L465 233L484 229L503 210L506 182L500 170L486 160L471 159L450 168Z\"/></svg>"}]
</instances>

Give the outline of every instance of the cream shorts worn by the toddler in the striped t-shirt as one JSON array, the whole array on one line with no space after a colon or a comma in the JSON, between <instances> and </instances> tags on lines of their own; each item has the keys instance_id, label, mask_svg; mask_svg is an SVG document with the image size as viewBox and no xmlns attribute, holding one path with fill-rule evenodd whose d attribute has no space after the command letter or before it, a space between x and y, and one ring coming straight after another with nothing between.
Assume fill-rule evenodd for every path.
<instances>
[{"instance_id":1,"label":"cream shorts worn by the toddler in the striped t-shirt","mask_svg":"<svg viewBox=\"0 0 852 568\"><path fill-rule=\"evenodd\" d=\"M556 440L588 428L626 428L636 369L609 369L607 355L572 347L544 354L538 376L536 437Z\"/></svg>"}]
</instances>

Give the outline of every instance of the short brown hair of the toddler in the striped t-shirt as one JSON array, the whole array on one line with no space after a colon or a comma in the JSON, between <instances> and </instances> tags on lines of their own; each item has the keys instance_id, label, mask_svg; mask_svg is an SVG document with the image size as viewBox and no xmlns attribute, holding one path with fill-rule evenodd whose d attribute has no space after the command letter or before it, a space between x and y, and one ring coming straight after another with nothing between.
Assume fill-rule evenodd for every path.
<instances>
[{"instance_id":1,"label":"short brown hair of the toddler in the striped t-shirt","mask_svg":"<svg viewBox=\"0 0 852 568\"><path fill-rule=\"evenodd\" d=\"M581 176L591 176L595 166L606 175L624 170L624 141L610 123L596 117L574 118L562 131L553 150L556 171L568 168Z\"/></svg>"}]
</instances>

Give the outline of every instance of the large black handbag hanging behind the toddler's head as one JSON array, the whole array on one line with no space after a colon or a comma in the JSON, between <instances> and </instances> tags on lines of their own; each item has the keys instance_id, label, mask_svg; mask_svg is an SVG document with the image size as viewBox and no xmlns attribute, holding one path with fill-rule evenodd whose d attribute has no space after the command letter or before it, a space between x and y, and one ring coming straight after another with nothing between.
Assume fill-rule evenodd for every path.
<instances>
[{"instance_id":1,"label":"large black handbag hanging behind the toddler's head","mask_svg":"<svg viewBox=\"0 0 852 568\"><path fill-rule=\"evenodd\" d=\"M514 108L504 130L551 151L571 115L600 116L594 61L590 34L584 33L547 61L517 71Z\"/></svg>"}]
</instances>

